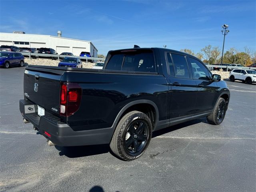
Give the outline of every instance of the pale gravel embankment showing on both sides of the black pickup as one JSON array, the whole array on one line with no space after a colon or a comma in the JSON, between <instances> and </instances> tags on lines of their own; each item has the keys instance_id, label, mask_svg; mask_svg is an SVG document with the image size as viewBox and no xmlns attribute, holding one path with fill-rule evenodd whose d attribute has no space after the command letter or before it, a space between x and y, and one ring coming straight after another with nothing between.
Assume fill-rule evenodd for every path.
<instances>
[{"instance_id":1,"label":"pale gravel embankment showing on both sides of the black pickup","mask_svg":"<svg viewBox=\"0 0 256 192\"><path fill-rule=\"evenodd\" d=\"M42 59L42 58L37 58L37 59L28 59L25 58L25 62L29 65L46 65L46 66L58 66L58 63L60 61L58 60L51 60L51 59ZM92 68L95 63L86 63L82 62L83 68ZM222 80L223 79L228 79L229 78L229 72L226 71L212 71L212 74L218 74L221 76Z\"/></svg>"}]
</instances>

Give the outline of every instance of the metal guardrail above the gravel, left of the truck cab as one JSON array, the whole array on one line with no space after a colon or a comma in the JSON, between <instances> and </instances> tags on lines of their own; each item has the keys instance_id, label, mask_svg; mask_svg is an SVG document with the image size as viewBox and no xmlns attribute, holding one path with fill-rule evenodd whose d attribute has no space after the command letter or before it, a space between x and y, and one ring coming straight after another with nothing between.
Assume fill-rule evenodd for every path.
<instances>
[{"instance_id":1,"label":"metal guardrail above the gravel, left of the truck cab","mask_svg":"<svg viewBox=\"0 0 256 192\"><path fill-rule=\"evenodd\" d=\"M88 60L96 60L96 62L98 60L102 60L104 61L105 58L97 58L97 57L80 57L80 56L66 56L66 55L58 55L58 54L42 54L42 53L24 53L24 52L20 52L22 55L26 55L29 56L29 58L31 59L33 56L38 56L38 57L46 57L46 58L58 58L58 60L60 60L60 58L65 58L65 57L79 57L80 59L86 60L86 63L88 63Z\"/></svg>"}]
</instances>

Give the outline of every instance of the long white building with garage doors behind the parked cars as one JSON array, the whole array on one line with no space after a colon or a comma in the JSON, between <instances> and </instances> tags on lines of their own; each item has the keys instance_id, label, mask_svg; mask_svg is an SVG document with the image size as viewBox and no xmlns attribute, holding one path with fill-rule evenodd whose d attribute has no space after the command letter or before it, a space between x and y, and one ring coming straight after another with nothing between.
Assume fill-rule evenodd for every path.
<instances>
[{"instance_id":1,"label":"long white building with garage doors behind the parked cars","mask_svg":"<svg viewBox=\"0 0 256 192\"><path fill-rule=\"evenodd\" d=\"M82 51L90 52L92 57L97 57L98 50L90 41L70 39L58 36L20 34L20 33L0 33L0 45L13 45L17 47L29 48L52 48L61 54L62 52L72 52L79 56Z\"/></svg>"}]
</instances>

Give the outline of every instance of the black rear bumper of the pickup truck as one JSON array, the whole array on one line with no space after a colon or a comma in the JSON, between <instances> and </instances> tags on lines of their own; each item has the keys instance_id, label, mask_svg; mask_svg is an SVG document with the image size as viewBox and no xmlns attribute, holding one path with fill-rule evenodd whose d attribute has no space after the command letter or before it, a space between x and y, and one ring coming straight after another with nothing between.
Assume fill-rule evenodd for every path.
<instances>
[{"instance_id":1,"label":"black rear bumper of the pickup truck","mask_svg":"<svg viewBox=\"0 0 256 192\"><path fill-rule=\"evenodd\" d=\"M31 108L34 110L31 111ZM44 137L58 146L108 144L112 138L113 128L74 131L53 114L46 112L44 116L38 116L37 105L28 100L20 100L20 112ZM45 132L51 136L47 136Z\"/></svg>"}]
</instances>

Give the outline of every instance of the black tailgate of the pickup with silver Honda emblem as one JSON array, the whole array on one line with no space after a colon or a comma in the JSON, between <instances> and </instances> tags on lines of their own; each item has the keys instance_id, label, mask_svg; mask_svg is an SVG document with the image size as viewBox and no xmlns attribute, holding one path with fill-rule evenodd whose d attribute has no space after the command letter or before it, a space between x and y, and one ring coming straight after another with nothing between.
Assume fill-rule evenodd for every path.
<instances>
[{"instance_id":1,"label":"black tailgate of the pickup with silver Honda emblem","mask_svg":"<svg viewBox=\"0 0 256 192\"><path fill-rule=\"evenodd\" d=\"M55 114L60 112L60 80L64 71L26 68L24 96L34 104Z\"/></svg>"}]
</instances>

